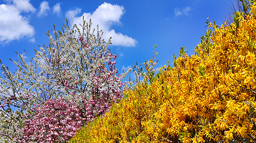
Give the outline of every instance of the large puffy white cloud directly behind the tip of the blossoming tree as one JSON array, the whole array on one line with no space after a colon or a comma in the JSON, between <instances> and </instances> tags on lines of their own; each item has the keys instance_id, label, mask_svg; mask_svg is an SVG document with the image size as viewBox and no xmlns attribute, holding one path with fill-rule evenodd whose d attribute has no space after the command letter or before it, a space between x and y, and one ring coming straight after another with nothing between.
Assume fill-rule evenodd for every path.
<instances>
[{"instance_id":1,"label":"large puffy white cloud directly behind the tip of the blossoming tree","mask_svg":"<svg viewBox=\"0 0 256 143\"><path fill-rule=\"evenodd\" d=\"M135 46L137 41L127 35L122 33L116 33L115 30L110 29L113 24L121 24L120 19L125 13L124 7L119 5L112 5L104 2L101 4L94 13L83 13L82 16L76 17L81 9L77 8L73 11L68 11L66 17L71 21L71 24L82 23L82 17L85 17L86 21L92 19L93 27L96 28L97 25L103 30L103 39L108 40L110 36L112 37L112 44L116 46Z\"/></svg>"}]
</instances>

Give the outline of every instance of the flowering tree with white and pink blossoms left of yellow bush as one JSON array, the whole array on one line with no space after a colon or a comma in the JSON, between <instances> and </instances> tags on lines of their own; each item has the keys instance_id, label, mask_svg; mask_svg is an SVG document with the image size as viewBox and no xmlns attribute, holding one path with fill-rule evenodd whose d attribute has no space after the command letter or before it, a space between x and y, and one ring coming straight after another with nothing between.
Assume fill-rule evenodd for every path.
<instances>
[{"instance_id":1,"label":"flowering tree with white and pink blossoms left of yellow bush","mask_svg":"<svg viewBox=\"0 0 256 143\"><path fill-rule=\"evenodd\" d=\"M121 81L130 70L119 75L117 56L107 48L110 39L101 39L103 32L92 30L91 21L83 20L80 26L70 29L67 21L62 31L54 27L53 35L47 34L49 46L35 51L30 64L24 53L18 54L20 60L13 61L16 73L1 63L0 142L47 142L56 136L65 141L64 136L71 137L80 126L104 115L122 97ZM66 126L68 120L76 124L72 129ZM38 134L43 126L49 129Z\"/></svg>"}]
</instances>

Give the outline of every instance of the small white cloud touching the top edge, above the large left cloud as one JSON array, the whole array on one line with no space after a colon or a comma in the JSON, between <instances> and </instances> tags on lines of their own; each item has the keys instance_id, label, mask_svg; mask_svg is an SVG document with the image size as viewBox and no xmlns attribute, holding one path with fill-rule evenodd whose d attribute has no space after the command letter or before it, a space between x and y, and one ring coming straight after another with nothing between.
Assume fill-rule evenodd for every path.
<instances>
[{"instance_id":1,"label":"small white cloud touching the top edge, above the large left cloud","mask_svg":"<svg viewBox=\"0 0 256 143\"><path fill-rule=\"evenodd\" d=\"M35 8L29 3L29 0L13 0L13 4L20 11L25 11L27 13L35 12Z\"/></svg>"}]
</instances>

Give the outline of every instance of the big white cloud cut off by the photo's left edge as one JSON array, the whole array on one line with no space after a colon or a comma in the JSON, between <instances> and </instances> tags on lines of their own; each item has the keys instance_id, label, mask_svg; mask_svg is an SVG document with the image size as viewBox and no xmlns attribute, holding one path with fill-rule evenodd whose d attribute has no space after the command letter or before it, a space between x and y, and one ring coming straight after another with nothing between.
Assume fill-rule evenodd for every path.
<instances>
[{"instance_id":1,"label":"big white cloud cut off by the photo's left edge","mask_svg":"<svg viewBox=\"0 0 256 143\"><path fill-rule=\"evenodd\" d=\"M29 24L28 18L20 15L20 10L33 11L30 7L19 8L14 5L0 5L0 42L9 42L24 36L34 36L34 27Z\"/></svg>"}]
</instances>

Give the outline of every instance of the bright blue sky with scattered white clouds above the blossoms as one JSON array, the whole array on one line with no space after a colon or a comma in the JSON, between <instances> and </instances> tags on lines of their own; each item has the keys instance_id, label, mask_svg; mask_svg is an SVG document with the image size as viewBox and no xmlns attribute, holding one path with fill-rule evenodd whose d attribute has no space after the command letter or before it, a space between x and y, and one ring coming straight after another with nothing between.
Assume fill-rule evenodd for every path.
<instances>
[{"instance_id":1,"label":"bright blue sky with scattered white clouds above the blossoms","mask_svg":"<svg viewBox=\"0 0 256 143\"><path fill-rule=\"evenodd\" d=\"M29 1L0 0L0 59L14 71L9 60L17 59L24 50L26 60L34 58L38 45L48 45L48 30L56 25L61 30L68 18L70 24L82 15L92 18L104 31L104 39L112 36L112 52L118 55L118 69L144 63L158 45L158 67L173 61L185 46L188 54L206 32L206 19L221 25L232 11L236 0L106 0L106 1Z\"/></svg>"}]
</instances>

